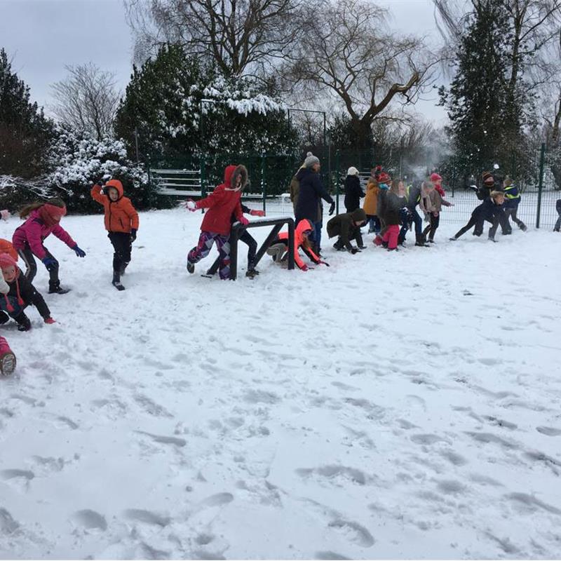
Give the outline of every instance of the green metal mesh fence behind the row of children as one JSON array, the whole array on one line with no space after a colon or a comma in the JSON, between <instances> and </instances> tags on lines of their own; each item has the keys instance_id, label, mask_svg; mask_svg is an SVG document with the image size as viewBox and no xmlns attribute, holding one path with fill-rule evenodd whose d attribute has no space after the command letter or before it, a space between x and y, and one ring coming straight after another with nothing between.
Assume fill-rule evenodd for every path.
<instances>
[{"instance_id":1,"label":"green metal mesh fence behind the row of children","mask_svg":"<svg viewBox=\"0 0 561 561\"><path fill-rule=\"evenodd\" d=\"M223 181L224 168L230 163L243 163L248 168L250 184L244 190L243 198L252 208L262 208L267 214L292 215L290 202L290 180L295 175L302 157L294 154L212 154L201 158L184 158L182 161L170 161L158 168L173 167L183 170L198 170L201 173L201 192L193 192L193 196L205 196L212 192L215 185ZM322 162L323 163L323 162ZM328 165L331 163L331 165ZM344 178L351 165L358 168L363 187L366 186L370 170L377 162L373 151L348 150L334 151L321 170L323 181L332 196L337 201L337 212L344 210ZM384 165L391 171L393 177L400 177L409 182L414 175L419 175L419 170L414 170L407 165L394 169ZM548 163L548 151L542 144L536 154L536 165L532 173L518 182L522 198L519 205L518 217L528 227L553 228L557 220L555 202L561 198L561 185L555 180L553 165ZM423 173L426 173L424 171ZM513 178L517 182L517 178ZM154 180L154 179L153 179ZM463 223L467 222L471 212L480 204L475 193L469 189L457 189L452 184L447 184L444 178L444 187L447 191L446 198L454 206L442 208L442 222Z\"/></svg>"}]
</instances>

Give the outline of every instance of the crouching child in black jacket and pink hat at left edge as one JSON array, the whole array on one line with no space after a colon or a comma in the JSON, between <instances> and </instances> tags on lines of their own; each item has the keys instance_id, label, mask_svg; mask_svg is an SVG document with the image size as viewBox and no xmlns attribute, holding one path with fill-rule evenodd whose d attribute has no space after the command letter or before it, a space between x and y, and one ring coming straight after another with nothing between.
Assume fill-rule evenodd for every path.
<instances>
[{"instance_id":1,"label":"crouching child in black jacket and pink hat at left edge","mask_svg":"<svg viewBox=\"0 0 561 561\"><path fill-rule=\"evenodd\" d=\"M30 304L36 306L45 323L55 323L41 294L35 290L27 277L21 274L18 265L7 253L0 254L0 269L8 285L8 292L4 298L0 298L0 324L13 318L18 324L18 331L29 331L31 321L25 315L25 309Z\"/></svg>"}]
</instances>

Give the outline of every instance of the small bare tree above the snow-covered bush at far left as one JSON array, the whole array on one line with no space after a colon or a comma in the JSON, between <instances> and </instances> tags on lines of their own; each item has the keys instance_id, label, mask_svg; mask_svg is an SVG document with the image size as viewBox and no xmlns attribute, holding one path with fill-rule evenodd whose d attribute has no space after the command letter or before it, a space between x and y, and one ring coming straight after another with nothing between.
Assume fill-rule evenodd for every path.
<instances>
[{"instance_id":1,"label":"small bare tree above the snow-covered bush at far left","mask_svg":"<svg viewBox=\"0 0 561 561\"><path fill-rule=\"evenodd\" d=\"M51 111L65 125L95 135L97 140L111 135L119 104L115 74L91 62L65 68L67 78L51 86L55 98Z\"/></svg>"}]
</instances>

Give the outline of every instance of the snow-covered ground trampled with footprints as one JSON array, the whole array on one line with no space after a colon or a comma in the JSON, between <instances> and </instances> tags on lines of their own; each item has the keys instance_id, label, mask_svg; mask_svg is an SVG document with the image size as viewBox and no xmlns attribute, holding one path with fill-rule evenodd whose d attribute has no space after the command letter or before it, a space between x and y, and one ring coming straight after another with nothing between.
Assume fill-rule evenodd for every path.
<instances>
[{"instance_id":1,"label":"snow-covered ground trampled with footprints","mask_svg":"<svg viewBox=\"0 0 561 561\"><path fill-rule=\"evenodd\" d=\"M59 323L1 329L1 558L561 556L561 235L228 283L185 270L200 222L143 213L125 292L101 215L48 240Z\"/></svg>"}]
</instances>

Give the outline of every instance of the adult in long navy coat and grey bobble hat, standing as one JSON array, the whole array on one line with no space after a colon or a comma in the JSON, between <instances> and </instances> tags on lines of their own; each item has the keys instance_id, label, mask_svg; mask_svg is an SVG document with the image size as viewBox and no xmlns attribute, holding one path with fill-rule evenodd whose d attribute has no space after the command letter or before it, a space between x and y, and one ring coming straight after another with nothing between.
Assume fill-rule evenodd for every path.
<instances>
[{"instance_id":1,"label":"adult in long navy coat and grey bobble hat, standing","mask_svg":"<svg viewBox=\"0 0 561 561\"><path fill-rule=\"evenodd\" d=\"M314 227L314 249L316 253L320 252L321 227L320 205L322 199L330 203L329 215L331 216L335 210L335 201L327 193L323 183L321 182L319 158L308 152L304 160L304 167L298 170L296 178L299 181L300 188L298 193L298 203L295 210L296 225L300 220L309 220Z\"/></svg>"}]
</instances>

